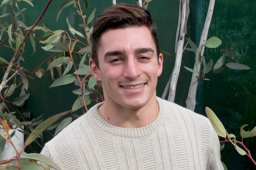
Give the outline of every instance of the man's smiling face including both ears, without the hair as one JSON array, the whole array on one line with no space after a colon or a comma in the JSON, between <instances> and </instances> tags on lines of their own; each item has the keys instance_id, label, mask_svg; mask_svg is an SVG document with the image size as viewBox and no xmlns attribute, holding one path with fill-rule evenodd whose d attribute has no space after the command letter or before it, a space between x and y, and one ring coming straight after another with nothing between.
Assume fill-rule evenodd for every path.
<instances>
[{"instance_id":1,"label":"man's smiling face including both ears, without the hair","mask_svg":"<svg viewBox=\"0 0 256 170\"><path fill-rule=\"evenodd\" d=\"M163 56L147 27L107 30L98 49L99 68L90 61L94 78L102 82L106 104L140 109L156 98Z\"/></svg>"}]
</instances>

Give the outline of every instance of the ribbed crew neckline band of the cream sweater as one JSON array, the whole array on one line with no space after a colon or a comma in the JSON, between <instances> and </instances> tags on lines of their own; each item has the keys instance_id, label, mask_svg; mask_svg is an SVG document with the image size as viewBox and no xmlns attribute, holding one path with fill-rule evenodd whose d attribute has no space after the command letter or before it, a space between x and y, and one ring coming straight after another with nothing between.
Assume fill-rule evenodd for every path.
<instances>
[{"instance_id":1,"label":"ribbed crew neckline band of the cream sweater","mask_svg":"<svg viewBox=\"0 0 256 170\"><path fill-rule=\"evenodd\" d=\"M164 100L161 98L157 97L157 103L159 106L159 113L157 115L157 118L150 124L144 126L144 127L139 127L139 128L124 128L124 127L117 127L114 126L113 124L110 124L106 122L98 112L98 108L104 104L98 103L95 106L93 106L89 110L89 116L91 118L91 121L100 129L102 129L105 132L108 132L112 135L116 136L121 136L121 137L143 137L147 135L151 135L157 129L159 129L160 126L162 126L163 122L165 121L165 116L166 116L166 109L164 111L165 104L163 103Z\"/></svg>"}]
</instances>

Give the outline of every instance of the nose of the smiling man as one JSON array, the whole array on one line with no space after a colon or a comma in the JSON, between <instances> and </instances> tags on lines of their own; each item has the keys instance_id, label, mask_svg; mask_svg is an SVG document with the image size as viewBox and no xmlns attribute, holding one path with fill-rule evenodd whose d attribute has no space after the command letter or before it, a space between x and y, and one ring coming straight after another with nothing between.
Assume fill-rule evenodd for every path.
<instances>
[{"instance_id":1,"label":"nose of the smiling man","mask_svg":"<svg viewBox=\"0 0 256 170\"><path fill-rule=\"evenodd\" d=\"M136 61L136 59L129 59L125 63L123 70L124 77L134 80L141 75L141 69L141 65Z\"/></svg>"}]
</instances>

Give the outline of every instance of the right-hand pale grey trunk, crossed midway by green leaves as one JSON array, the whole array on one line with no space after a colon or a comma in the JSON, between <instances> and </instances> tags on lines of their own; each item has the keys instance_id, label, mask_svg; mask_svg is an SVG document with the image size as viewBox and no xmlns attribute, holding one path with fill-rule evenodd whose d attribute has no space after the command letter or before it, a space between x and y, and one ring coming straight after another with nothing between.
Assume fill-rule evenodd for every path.
<instances>
[{"instance_id":1,"label":"right-hand pale grey trunk, crossed midway by green leaves","mask_svg":"<svg viewBox=\"0 0 256 170\"><path fill-rule=\"evenodd\" d=\"M208 30L209 30L210 23L211 23L212 13L213 13L213 9L214 9L214 3L215 3L215 0L210 0L210 2L209 2L206 21L205 21L205 24L203 27L203 32L201 35L199 46L202 46L206 42ZM202 48L200 56L203 56L203 52L204 52L204 46ZM200 68L200 64L201 64L200 61L198 63L195 63L194 70L196 70L197 68ZM198 74L195 74L195 73L192 74L192 78L191 78L191 82L190 82L190 86L189 86L189 93L188 93L187 100L186 100L186 108L189 110L192 110L192 111L195 110L195 105L196 105L195 97L196 97L197 84L198 84L198 80L197 80L196 76L198 76Z\"/></svg>"}]
</instances>

